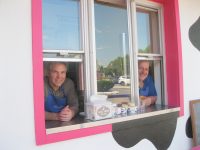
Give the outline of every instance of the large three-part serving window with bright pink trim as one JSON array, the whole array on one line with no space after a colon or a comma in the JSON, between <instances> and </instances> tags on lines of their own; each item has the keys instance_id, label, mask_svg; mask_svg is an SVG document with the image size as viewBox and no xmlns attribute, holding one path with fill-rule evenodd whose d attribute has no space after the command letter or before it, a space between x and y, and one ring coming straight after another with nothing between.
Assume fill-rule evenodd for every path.
<instances>
[{"instance_id":1,"label":"large three-part serving window with bright pink trim","mask_svg":"<svg viewBox=\"0 0 200 150\"><path fill-rule=\"evenodd\" d=\"M101 124L62 134L46 133L43 68L50 61L63 61L72 68L71 77L76 82L77 90L82 93L84 102L92 94L103 93L111 100L116 97L128 97L129 101L137 104L138 61L149 60L150 73L158 91L157 103L180 106L183 111L177 2L159 1L162 5L139 0L126 2L123 0L32 1L37 144L112 131L111 124ZM162 16L162 6L165 9L164 16ZM102 18L103 13L105 13L104 18ZM171 17L171 13L176 17ZM116 69L115 65L119 65L120 69L119 66ZM104 80L113 84L113 87L102 91L100 82Z\"/></svg>"}]
</instances>

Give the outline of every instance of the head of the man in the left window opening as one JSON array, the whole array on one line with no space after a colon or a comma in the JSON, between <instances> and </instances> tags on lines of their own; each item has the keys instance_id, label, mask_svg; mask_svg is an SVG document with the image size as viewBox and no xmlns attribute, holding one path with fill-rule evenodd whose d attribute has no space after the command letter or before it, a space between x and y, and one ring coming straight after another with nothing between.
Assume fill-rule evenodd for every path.
<instances>
[{"instance_id":1,"label":"head of the man in the left window opening","mask_svg":"<svg viewBox=\"0 0 200 150\"><path fill-rule=\"evenodd\" d=\"M63 62L51 62L48 68L49 84L57 90L65 81L67 73L66 64Z\"/></svg>"}]
</instances>

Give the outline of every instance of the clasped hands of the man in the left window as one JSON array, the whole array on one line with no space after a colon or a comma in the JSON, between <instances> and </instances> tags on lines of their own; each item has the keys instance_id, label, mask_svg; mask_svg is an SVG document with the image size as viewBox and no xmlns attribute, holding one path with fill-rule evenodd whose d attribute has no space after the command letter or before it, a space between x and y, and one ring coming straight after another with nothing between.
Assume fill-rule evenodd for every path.
<instances>
[{"instance_id":1,"label":"clasped hands of the man in the left window","mask_svg":"<svg viewBox=\"0 0 200 150\"><path fill-rule=\"evenodd\" d=\"M60 113L58 113L58 118L60 121L70 121L75 115L75 112L66 106L62 109Z\"/></svg>"}]
</instances>

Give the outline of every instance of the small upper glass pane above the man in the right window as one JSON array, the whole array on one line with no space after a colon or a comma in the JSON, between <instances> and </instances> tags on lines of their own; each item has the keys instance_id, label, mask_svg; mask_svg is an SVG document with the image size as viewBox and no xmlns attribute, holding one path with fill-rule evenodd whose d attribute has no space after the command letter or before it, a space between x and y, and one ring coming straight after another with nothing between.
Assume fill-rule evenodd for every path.
<instances>
[{"instance_id":1,"label":"small upper glass pane above the man in the right window","mask_svg":"<svg viewBox=\"0 0 200 150\"><path fill-rule=\"evenodd\" d=\"M137 9L138 52L159 54L158 12Z\"/></svg>"}]
</instances>

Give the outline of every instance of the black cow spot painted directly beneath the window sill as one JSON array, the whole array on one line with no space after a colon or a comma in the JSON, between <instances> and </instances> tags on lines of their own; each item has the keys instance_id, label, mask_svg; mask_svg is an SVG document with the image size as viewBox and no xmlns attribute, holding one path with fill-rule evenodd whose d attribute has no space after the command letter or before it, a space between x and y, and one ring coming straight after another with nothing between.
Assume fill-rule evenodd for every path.
<instances>
[{"instance_id":1,"label":"black cow spot painted directly beneath the window sill","mask_svg":"<svg viewBox=\"0 0 200 150\"><path fill-rule=\"evenodd\" d=\"M112 135L125 148L135 146L143 139L151 141L158 150L170 146L177 125L178 112L114 123Z\"/></svg>"}]
</instances>

